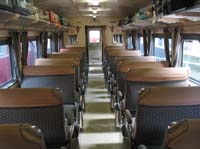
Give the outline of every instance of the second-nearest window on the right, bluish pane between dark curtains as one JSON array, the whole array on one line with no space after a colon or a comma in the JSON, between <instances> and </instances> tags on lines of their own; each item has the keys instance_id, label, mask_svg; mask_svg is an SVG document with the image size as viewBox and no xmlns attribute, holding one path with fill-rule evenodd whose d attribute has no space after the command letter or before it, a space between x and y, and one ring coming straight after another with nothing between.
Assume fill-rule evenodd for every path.
<instances>
[{"instance_id":1,"label":"second-nearest window on the right, bluish pane between dark curtains","mask_svg":"<svg viewBox=\"0 0 200 149\"><path fill-rule=\"evenodd\" d=\"M169 50L171 52L171 39L169 39ZM154 38L153 55L156 57L158 61L166 60L164 38L160 37Z\"/></svg>"}]
</instances>

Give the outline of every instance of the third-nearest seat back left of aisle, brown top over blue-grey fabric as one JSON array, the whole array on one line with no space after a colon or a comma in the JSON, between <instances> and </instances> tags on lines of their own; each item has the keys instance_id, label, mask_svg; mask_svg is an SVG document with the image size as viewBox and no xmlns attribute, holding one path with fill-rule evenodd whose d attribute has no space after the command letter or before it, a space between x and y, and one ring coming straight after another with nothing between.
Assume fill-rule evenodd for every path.
<instances>
[{"instance_id":1,"label":"third-nearest seat back left of aisle, brown top over blue-grey fabric","mask_svg":"<svg viewBox=\"0 0 200 149\"><path fill-rule=\"evenodd\" d=\"M26 66L22 88L59 88L64 104L75 104L75 70L69 66Z\"/></svg>"}]
</instances>

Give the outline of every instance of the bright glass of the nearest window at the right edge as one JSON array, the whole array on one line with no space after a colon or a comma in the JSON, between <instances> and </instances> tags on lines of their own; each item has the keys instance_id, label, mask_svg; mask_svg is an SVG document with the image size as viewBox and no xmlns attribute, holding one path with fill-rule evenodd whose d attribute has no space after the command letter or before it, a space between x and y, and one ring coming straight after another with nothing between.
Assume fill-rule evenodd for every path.
<instances>
[{"instance_id":1,"label":"bright glass of the nearest window at the right edge","mask_svg":"<svg viewBox=\"0 0 200 149\"><path fill-rule=\"evenodd\" d=\"M200 42L199 40L184 40L183 64L190 69L190 78L200 83Z\"/></svg>"}]
</instances>

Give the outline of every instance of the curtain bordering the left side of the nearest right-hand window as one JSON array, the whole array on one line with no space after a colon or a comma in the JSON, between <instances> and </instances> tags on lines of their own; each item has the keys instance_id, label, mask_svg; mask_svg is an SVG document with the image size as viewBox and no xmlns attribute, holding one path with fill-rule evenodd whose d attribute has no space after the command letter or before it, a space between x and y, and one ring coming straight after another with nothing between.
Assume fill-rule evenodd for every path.
<instances>
[{"instance_id":1,"label":"curtain bordering the left side of the nearest right-hand window","mask_svg":"<svg viewBox=\"0 0 200 149\"><path fill-rule=\"evenodd\" d=\"M181 55L181 47L182 47L182 39L181 39L181 28L173 28L172 29L172 59L171 66L175 67L178 65L178 57Z\"/></svg>"}]
</instances>

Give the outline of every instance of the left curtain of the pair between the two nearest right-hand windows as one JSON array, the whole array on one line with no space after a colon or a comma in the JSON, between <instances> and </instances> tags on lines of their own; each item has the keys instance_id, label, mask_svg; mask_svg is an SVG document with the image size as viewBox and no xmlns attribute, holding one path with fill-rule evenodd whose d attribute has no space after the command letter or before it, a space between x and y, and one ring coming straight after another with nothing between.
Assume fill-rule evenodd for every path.
<instances>
[{"instance_id":1,"label":"left curtain of the pair between the two nearest right-hand windows","mask_svg":"<svg viewBox=\"0 0 200 149\"><path fill-rule=\"evenodd\" d=\"M165 46L165 56L166 60L169 64L169 67L171 67L171 58L170 58L170 51L169 51L169 29L164 29L164 46Z\"/></svg>"}]
</instances>

